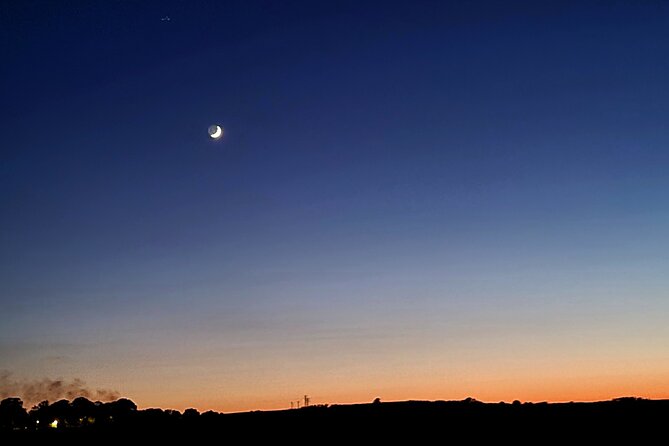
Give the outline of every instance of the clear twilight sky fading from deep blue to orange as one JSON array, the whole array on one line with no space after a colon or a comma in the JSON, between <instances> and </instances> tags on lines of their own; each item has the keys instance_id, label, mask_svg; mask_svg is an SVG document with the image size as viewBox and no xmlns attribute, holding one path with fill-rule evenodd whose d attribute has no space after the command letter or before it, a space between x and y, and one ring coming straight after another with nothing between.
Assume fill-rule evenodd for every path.
<instances>
[{"instance_id":1,"label":"clear twilight sky fading from deep blue to orange","mask_svg":"<svg viewBox=\"0 0 669 446\"><path fill-rule=\"evenodd\" d=\"M0 37L14 378L669 397L666 1L21 0Z\"/></svg>"}]
</instances>

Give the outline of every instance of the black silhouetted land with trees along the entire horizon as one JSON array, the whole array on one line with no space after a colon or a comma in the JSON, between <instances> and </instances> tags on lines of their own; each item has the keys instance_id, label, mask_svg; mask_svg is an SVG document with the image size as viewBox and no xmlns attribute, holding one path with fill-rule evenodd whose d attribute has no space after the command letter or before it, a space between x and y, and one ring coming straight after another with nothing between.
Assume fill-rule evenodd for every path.
<instances>
[{"instance_id":1,"label":"black silhouetted land with trees along the entire horizon","mask_svg":"<svg viewBox=\"0 0 669 446\"><path fill-rule=\"evenodd\" d=\"M18 398L0 402L0 430L5 434L100 435L148 433L157 435L241 434L249 441L268 436L320 433L329 438L393 438L395 435L462 435L475 439L532 437L536 441L569 435L593 439L620 438L632 433L664 432L669 423L669 400L619 398L595 403L482 403L463 401L406 401L354 405L321 405L296 410L220 414L187 409L137 410L128 399L92 402L80 397L52 404L44 401L30 410ZM518 438L520 438L518 437Z\"/></svg>"}]
</instances>

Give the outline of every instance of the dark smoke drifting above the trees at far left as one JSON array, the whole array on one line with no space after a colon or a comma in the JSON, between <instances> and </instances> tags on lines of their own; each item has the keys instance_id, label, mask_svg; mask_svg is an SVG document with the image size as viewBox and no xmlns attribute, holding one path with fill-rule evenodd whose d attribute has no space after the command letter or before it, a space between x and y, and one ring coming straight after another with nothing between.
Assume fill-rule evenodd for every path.
<instances>
[{"instance_id":1,"label":"dark smoke drifting above the trees at far left","mask_svg":"<svg viewBox=\"0 0 669 446\"><path fill-rule=\"evenodd\" d=\"M40 401L73 400L83 396L93 401L112 401L119 398L118 392L107 389L91 389L86 383L75 378L72 381L44 378L40 380L12 379L9 372L0 372L0 399L19 397L26 407Z\"/></svg>"}]
</instances>

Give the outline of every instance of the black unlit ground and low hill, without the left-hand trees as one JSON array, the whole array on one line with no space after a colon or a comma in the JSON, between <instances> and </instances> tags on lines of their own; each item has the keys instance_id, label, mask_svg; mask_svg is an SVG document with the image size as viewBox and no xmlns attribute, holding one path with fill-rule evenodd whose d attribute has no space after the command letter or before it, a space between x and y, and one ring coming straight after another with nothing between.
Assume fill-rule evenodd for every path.
<instances>
[{"instance_id":1,"label":"black unlit ground and low hill, without the left-hand trees","mask_svg":"<svg viewBox=\"0 0 669 446\"><path fill-rule=\"evenodd\" d=\"M33 426L5 430L4 435L18 441L39 438L43 441L132 442L151 438L197 441L198 444L267 440L358 443L399 439L421 443L463 440L638 443L653 441L655 435L661 435L657 441L666 440L669 400L624 398L595 403L504 404L468 399L312 406L234 414L133 409L108 418L107 422L101 422L99 416L98 422L80 426L71 423L70 427L63 427L61 423L57 429Z\"/></svg>"}]
</instances>

